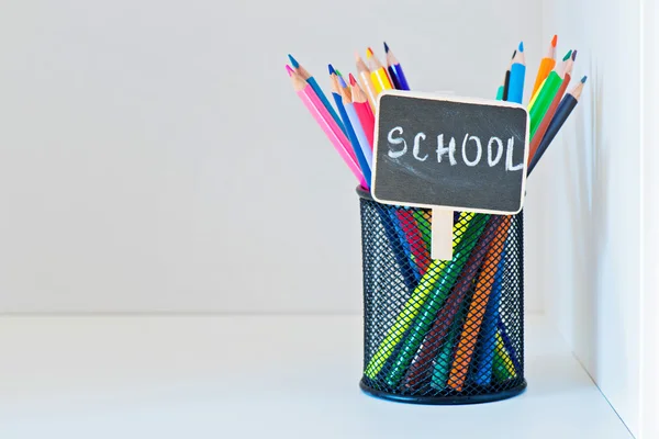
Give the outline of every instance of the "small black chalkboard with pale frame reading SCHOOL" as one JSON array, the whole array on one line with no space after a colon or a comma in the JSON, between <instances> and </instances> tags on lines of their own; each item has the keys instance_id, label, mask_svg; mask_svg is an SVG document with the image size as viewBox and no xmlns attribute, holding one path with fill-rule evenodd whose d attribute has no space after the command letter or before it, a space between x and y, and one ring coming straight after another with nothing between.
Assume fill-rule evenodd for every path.
<instances>
[{"instance_id":1,"label":"small black chalkboard with pale frame reading SCHOOL","mask_svg":"<svg viewBox=\"0 0 659 439\"><path fill-rule=\"evenodd\" d=\"M527 138L522 105L387 91L378 102L372 195L387 204L515 214Z\"/></svg>"}]
</instances>

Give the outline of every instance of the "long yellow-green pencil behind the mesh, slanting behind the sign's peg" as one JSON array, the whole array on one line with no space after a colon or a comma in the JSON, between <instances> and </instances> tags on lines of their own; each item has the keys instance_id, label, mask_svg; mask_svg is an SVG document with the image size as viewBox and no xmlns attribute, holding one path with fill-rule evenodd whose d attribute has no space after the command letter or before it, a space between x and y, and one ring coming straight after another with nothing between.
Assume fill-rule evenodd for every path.
<instances>
[{"instance_id":1,"label":"long yellow-green pencil behind the mesh, slanting behind the sign's peg","mask_svg":"<svg viewBox=\"0 0 659 439\"><path fill-rule=\"evenodd\" d=\"M454 251L456 250L456 246L461 243L462 236L465 236L463 228L470 224L473 216L474 213L460 212L460 217L454 226ZM375 379L380 373L380 370L392 354L395 346L401 341L403 335L421 312L423 304L435 290L435 286L443 277L444 270L449 263L450 261L447 260L433 259L427 271L399 313L395 323L389 328L378 350L369 360L364 372L366 376Z\"/></svg>"}]
</instances>

